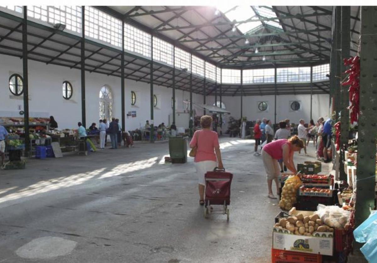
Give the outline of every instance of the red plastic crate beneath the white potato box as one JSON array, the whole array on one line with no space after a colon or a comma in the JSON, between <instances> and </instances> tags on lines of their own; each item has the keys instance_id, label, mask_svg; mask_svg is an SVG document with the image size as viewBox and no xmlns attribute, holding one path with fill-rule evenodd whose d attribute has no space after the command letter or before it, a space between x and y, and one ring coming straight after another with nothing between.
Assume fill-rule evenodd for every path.
<instances>
[{"instance_id":1,"label":"red plastic crate beneath the white potato box","mask_svg":"<svg viewBox=\"0 0 377 263\"><path fill-rule=\"evenodd\" d=\"M271 250L271 259L272 263L321 263L322 255L273 248Z\"/></svg>"}]
</instances>

